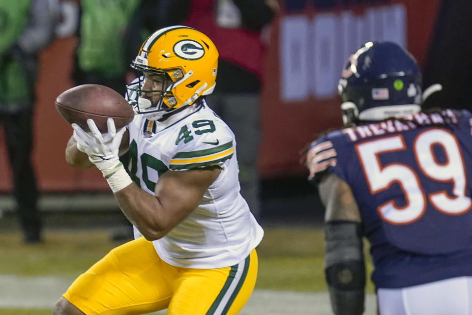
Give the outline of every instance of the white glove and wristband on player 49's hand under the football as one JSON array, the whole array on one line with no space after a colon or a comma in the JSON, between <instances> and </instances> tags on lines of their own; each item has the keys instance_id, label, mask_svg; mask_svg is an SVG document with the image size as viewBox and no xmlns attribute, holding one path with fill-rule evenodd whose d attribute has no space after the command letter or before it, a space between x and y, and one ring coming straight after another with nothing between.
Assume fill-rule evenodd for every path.
<instances>
[{"instance_id":1,"label":"white glove and wristband on player 49's hand under the football","mask_svg":"<svg viewBox=\"0 0 472 315\"><path fill-rule=\"evenodd\" d=\"M90 132L85 132L78 124L73 123L74 139L77 148L87 153L92 162L102 173L113 192L131 184L132 180L119 161L118 150L126 128L116 130L113 118L107 119L107 133L100 133L95 122L87 119Z\"/></svg>"}]
</instances>

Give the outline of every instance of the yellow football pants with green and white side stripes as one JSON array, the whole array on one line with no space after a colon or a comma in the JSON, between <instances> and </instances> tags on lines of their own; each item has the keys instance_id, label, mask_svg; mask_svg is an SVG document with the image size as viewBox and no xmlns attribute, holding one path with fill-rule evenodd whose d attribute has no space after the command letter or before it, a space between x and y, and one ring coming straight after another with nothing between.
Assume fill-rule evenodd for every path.
<instances>
[{"instance_id":1,"label":"yellow football pants with green and white side stripes","mask_svg":"<svg viewBox=\"0 0 472 315\"><path fill-rule=\"evenodd\" d=\"M191 269L164 262L144 237L113 249L63 294L86 315L235 315L256 284L256 250L234 266Z\"/></svg>"}]
</instances>

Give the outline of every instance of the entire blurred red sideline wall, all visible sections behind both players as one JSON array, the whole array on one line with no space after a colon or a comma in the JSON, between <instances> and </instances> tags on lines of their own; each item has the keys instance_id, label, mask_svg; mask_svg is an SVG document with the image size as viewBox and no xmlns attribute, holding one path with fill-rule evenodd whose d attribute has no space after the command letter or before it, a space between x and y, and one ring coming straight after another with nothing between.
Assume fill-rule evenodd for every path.
<instances>
[{"instance_id":1,"label":"entire blurred red sideline wall, all visible sections behind both players","mask_svg":"<svg viewBox=\"0 0 472 315\"><path fill-rule=\"evenodd\" d=\"M273 22L261 94L259 166L265 178L304 173L299 151L317 133L341 126L337 80L345 59L365 41L392 40L422 64L439 0L375 1L376 5L282 12ZM283 6L283 5L282 5ZM64 160L72 128L54 102L74 86L70 78L74 36L56 39L41 55L36 85L33 164L43 192L108 190L97 170L77 170ZM0 192L11 190L0 128Z\"/></svg>"}]
</instances>

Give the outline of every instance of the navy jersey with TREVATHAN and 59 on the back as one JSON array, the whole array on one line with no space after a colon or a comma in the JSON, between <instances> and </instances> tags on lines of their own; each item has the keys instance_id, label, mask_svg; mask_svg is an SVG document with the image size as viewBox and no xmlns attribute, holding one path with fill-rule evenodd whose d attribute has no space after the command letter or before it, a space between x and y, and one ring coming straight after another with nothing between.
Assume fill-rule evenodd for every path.
<instances>
[{"instance_id":1,"label":"navy jersey with TREVATHAN and 59 on the back","mask_svg":"<svg viewBox=\"0 0 472 315\"><path fill-rule=\"evenodd\" d=\"M377 287L472 276L472 115L444 114L337 130L311 145L312 175L334 173L353 191Z\"/></svg>"}]
</instances>

